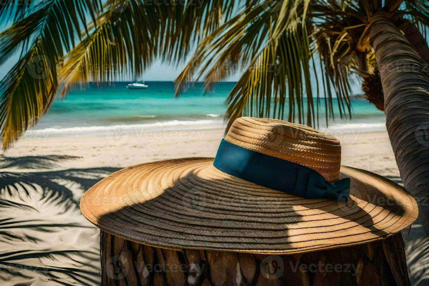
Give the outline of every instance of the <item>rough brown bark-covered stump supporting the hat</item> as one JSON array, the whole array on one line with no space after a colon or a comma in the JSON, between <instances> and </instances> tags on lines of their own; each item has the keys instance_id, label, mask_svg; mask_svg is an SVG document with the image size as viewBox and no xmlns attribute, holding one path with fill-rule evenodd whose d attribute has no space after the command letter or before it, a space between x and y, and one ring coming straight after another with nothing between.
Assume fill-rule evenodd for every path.
<instances>
[{"instance_id":1,"label":"rough brown bark-covered stump supporting the hat","mask_svg":"<svg viewBox=\"0 0 429 286\"><path fill-rule=\"evenodd\" d=\"M401 233L296 255L168 250L101 231L103 286L410 285Z\"/></svg>"}]
</instances>

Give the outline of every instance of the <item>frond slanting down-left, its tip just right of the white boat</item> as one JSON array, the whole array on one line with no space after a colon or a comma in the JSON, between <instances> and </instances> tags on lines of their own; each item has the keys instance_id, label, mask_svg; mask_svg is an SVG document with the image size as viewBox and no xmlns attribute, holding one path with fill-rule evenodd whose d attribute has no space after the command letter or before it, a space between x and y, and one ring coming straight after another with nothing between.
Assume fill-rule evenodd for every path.
<instances>
[{"instance_id":1,"label":"frond slanting down-left, its tip just right of the white boat","mask_svg":"<svg viewBox=\"0 0 429 286\"><path fill-rule=\"evenodd\" d=\"M208 88L251 63L268 41L271 15L264 12L264 5L249 6L207 36L175 80L175 96L193 80L204 77Z\"/></svg>"}]
</instances>

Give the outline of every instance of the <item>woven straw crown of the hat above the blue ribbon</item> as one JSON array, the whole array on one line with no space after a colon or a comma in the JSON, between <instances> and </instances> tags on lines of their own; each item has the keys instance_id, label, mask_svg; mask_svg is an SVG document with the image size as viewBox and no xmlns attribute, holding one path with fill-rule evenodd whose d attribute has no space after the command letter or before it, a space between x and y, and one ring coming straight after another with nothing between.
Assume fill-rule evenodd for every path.
<instances>
[{"instance_id":1,"label":"woven straw crown of the hat above the blue ribbon","mask_svg":"<svg viewBox=\"0 0 429 286\"><path fill-rule=\"evenodd\" d=\"M298 163L338 181L340 141L311 127L275 119L240 117L226 141L272 157Z\"/></svg>"}]
</instances>

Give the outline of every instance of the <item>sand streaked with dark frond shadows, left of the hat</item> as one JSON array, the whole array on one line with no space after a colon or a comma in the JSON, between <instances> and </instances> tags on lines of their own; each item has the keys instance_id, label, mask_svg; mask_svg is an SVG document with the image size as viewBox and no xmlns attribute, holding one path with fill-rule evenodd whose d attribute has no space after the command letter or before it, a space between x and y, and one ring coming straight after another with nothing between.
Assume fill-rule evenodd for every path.
<instances>
[{"instance_id":1,"label":"sand streaked with dark frond shadows, left of the hat","mask_svg":"<svg viewBox=\"0 0 429 286\"><path fill-rule=\"evenodd\" d=\"M71 159L34 158L3 157L2 167L46 169ZM0 284L100 285L99 229L82 216L79 201L117 170L0 172Z\"/></svg>"}]
</instances>

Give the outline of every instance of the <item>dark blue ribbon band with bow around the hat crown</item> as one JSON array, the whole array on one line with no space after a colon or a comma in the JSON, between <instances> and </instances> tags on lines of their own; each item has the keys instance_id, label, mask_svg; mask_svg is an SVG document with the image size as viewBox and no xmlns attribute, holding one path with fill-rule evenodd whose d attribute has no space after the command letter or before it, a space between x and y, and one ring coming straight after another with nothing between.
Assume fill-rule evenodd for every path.
<instances>
[{"instance_id":1,"label":"dark blue ribbon band with bow around the hat crown","mask_svg":"<svg viewBox=\"0 0 429 286\"><path fill-rule=\"evenodd\" d=\"M306 166L221 141L213 165L220 171L273 190L306 199L347 202L350 178L330 183Z\"/></svg>"}]
</instances>

